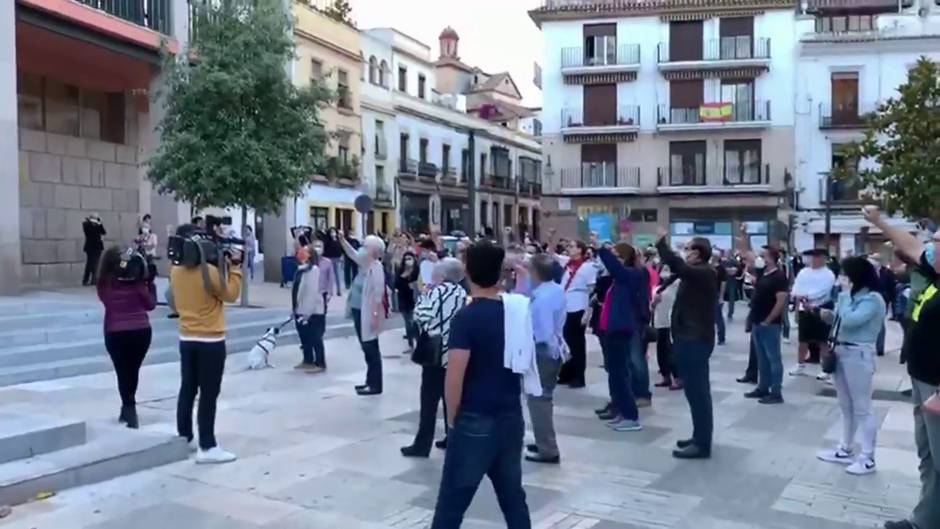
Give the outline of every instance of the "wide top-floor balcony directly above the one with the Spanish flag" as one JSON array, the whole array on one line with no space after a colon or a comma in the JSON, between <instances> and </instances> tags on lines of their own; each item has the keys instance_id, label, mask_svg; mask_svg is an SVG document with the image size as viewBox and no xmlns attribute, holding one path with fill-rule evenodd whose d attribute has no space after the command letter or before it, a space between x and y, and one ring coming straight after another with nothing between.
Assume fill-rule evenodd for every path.
<instances>
[{"instance_id":1,"label":"wide top-floor balcony directly above the one with the Spanish flag","mask_svg":"<svg viewBox=\"0 0 940 529\"><path fill-rule=\"evenodd\" d=\"M659 69L663 71L770 65L770 39L755 39L751 36L705 40L701 53L698 50L670 48L669 43L661 42L656 52Z\"/></svg>"}]
</instances>

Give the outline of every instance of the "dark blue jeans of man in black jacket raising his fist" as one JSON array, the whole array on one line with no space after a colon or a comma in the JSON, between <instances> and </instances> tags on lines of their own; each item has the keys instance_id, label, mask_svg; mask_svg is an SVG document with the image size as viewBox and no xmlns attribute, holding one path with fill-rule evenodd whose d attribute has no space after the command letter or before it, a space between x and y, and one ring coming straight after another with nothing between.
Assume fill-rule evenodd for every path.
<instances>
[{"instance_id":1,"label":"dark blue jeans of man in black jacket raising his fist","mask_svg":"<svg viewBox=\"0 0 940 529\"><path fill-rule=\"evenodd\" d=\"M673 351L679 373L682 375L685 399L692 412L692 441L695 446L710 452L712 448L712 390L708 360L715 344L710 340L673 337Z\"/></svg>"}]
</instances>

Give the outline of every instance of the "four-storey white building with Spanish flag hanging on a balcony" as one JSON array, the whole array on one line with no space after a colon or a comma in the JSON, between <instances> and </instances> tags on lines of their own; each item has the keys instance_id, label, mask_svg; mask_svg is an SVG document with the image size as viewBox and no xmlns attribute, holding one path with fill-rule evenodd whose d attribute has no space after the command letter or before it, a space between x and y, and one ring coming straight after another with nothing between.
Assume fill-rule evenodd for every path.
<instances>
[{"instance_id":1,"label":"four-storey white building with Spanish flag hanging on a balcony","mask_svg":"<svg viewBox=\"0 0 940 529\"><path fill-rule=\"evenodd\" d=\"M785 240L794 2L546 0L544 223L652 242Z\"/></svg>"}]
</instances>

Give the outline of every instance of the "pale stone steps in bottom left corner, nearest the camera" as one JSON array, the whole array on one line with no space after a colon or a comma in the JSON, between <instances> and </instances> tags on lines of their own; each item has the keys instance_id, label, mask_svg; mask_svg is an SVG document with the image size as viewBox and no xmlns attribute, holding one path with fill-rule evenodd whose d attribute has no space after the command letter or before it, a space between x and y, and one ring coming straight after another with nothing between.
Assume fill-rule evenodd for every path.
<instances>
[{"instance_id":1,"label":"pale stone steps in bottom left corner, nearest the camera","mask_svg":"<svg viewBox=\"0 0 940 529\"><path fill-rule=\"evenodd\" d=\"M80 444L0 464L0 505L18 505L39 493L99 483L189 457L189 447L179 437L118 425L77 425L50 423L30 435L36 448L52 447L56 440L77 440L80 429ZM0 447L14 442L3 435L0 432Z\"/></svg>"}]
</instances>

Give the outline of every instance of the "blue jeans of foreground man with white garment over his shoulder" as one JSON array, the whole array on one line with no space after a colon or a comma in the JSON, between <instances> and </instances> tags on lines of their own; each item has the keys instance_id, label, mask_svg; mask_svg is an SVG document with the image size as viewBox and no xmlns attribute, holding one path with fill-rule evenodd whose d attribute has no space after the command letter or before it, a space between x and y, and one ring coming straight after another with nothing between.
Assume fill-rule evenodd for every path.
<instances>
[{"instance_id":1,"label":"blue jeans of foreground man with white garment over his shoulder","mask_svg":"<svg viewBox=\"0 0 940 529\"><path fill-rule=\"evenodd\" d=\"M447 455L431 529L458 529L483 476L489 476L508 529L531 529L522 488L522 409L504 415L461 412Z\"/></svg>"}]
</instances>

